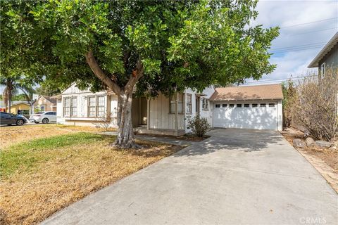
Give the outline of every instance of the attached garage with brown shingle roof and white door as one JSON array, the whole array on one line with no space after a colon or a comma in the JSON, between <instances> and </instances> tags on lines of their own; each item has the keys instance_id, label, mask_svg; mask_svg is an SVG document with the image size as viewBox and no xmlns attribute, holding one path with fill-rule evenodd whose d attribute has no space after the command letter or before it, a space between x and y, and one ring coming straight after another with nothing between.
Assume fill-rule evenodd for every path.
<instances>
[{"instance_id":1,"label":"attached garage with brown shingle roof and white door","mask_svg":"<svg viewBox=\"0 0 338 225\"><path fill-rule=\"evenodd\" d=\"M280 84L215 89L213 127L282 130Z\"/></svg>"}]
</instances>

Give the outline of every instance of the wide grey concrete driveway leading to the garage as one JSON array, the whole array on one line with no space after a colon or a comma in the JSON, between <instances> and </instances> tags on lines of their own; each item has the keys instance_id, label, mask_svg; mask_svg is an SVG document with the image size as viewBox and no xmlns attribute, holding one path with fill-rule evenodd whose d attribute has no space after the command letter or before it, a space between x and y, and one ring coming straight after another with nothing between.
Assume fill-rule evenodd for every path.
<instances>
[{"instance_id":1,"label":"wide grey concrete driveway leading to the garage","mask_svg":"<svg viewBox=\"0 0 338 225\"><path fill-rule=\"evenodd\" d=\"M277 131L215 129L43 224L337 224L338 195Z\"/></svg>"}]
</instances>

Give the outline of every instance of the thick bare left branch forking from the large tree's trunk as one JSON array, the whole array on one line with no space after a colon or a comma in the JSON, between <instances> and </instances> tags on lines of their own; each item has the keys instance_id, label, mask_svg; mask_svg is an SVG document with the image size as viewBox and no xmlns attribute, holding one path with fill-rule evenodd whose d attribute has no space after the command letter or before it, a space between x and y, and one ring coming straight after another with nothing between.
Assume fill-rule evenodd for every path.
<instances>
[{"instance_id":1,"label":"thick bare left branch forking from the large tree's trunk","mask_svg":"<svg viewBox=\"0 0 338 225\"><path fill-rule=\"evenodd\" d=\"M114 76L113 79L111 79L104 73L104 71L101 70L99 64L96 62L93 51L90 50L85 54L85 56L89 67L94 72L94 75L96 75L96 77L99 77L99 79L101 79L104 84L106 84L111 90L113 90L115 94L120 94L120 86L118 86L118 84L116 84L115 82L116 77Z\"/></svg>"}]
</instances>

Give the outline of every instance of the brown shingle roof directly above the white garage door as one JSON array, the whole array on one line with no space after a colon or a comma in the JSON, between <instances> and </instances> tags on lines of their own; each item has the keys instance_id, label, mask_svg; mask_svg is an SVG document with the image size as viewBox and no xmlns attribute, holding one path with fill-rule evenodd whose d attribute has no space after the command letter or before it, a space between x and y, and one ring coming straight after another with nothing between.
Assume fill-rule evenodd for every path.
<instances>
[{"instance_id":1,"label":"brown shingle roof directly above the white garage door","mask_svg":"<svg viewBox=\"0 0 338 225\"><path fill-rule=\"evenodd\" d=\"M211 96L211 101L238 101L238 100L271 100L282 99L281 84L266 84L255 86L219 87Z\"/></svg>"}]
</instances>

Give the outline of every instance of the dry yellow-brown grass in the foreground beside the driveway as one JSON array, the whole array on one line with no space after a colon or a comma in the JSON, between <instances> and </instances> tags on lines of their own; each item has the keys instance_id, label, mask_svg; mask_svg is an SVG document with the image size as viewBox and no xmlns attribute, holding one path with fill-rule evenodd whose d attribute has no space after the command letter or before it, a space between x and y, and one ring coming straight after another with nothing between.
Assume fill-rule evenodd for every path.
<instances>
[{"instance_id":1,"label":"dry yellow-brown grass in the foreground beside the driveway","mask_svg":"<svg viewBox=\"0 0 338 225\"><path fill-rule=\"evenodd\" d=\"M178 146L144 141L138 141L146 146L142 150L119 150L109 147L113 141L111 136L88 133L74 134L73 139L85 137L90 141L73 143L70 139L56 147L56 140L64 136L67 135L27 142L30 147L25 150L39 157L29 161L30 164L19 161L18 167L9 169L3 177L0 214L7 224L37 224L89 193L180 150ZM22 148L19 144L4 152L11 151L15 155ZM18 164L20 157L8 159L10 155L5 155L6 160Z\"/></svg>"}]
</instances>

